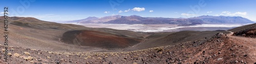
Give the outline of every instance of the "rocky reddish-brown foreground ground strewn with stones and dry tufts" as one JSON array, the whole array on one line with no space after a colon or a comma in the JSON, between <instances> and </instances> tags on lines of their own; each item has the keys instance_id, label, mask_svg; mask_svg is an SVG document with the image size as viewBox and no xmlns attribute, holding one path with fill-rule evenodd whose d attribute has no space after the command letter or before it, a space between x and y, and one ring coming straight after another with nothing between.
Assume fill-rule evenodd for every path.
<instances>
[{"instance_id":1,"label":"rocky reddish-brown foreground ground strewn with stones and dry tufts","mask_svg":"<svg viewBox=\"0 0 256 64\"><path fill-rule=\"evenodd\" d=\"M256 39L216 34L211 38L129 52L51 52L9 47L0 63L255 63Z\"/></svg>"}]
</instances>

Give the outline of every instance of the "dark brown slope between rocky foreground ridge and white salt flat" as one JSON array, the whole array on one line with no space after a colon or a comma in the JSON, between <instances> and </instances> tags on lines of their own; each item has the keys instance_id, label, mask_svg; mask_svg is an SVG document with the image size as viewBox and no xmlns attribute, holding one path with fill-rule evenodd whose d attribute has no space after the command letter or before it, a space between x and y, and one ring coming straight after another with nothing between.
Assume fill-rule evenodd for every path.
<instances>
[{"instance_id":1,"label":"dark brown slope between rocky foreground ridge and white salt flat","mask_svg":"<svg viewBox=\"0 0 256 64\"><path fill-rule=\"evenodd\" d=\"M155 33L151 36L146 37L146 40L135 46L129 47L125 50L140 50L153 47L160 47L166 45L174 45L178 43L194 41L198 39L209 38L217 33L228 34L224 30L216 31L179 31L173 33Z\"/></svg>"}]
</instances>

